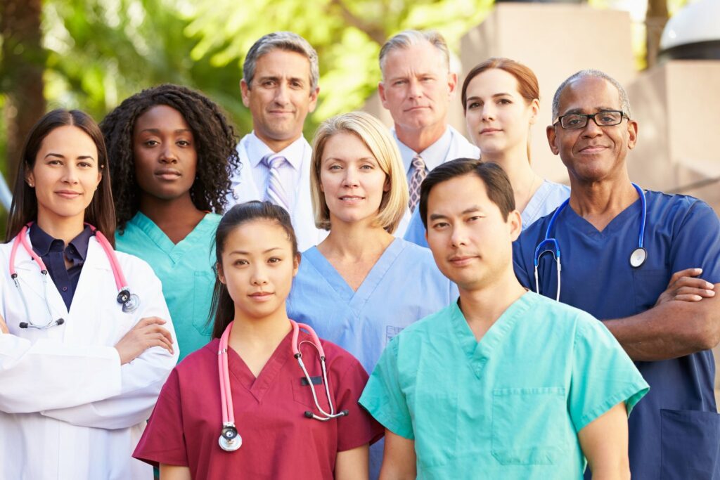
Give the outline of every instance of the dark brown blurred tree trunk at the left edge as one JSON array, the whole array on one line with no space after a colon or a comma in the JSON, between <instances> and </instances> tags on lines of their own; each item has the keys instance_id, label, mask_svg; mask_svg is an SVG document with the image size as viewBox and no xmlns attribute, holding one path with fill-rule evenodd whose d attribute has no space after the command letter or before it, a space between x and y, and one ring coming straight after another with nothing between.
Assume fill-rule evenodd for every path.
<instances>
[{"instance_id":1,"label":"dark brown blurred tree trunk at the left edge","mask_svg":"<svg viewBox=\"0 0 720 480\"><path fill-rule=\"evenodd\" d=\"M42 0L0 0L0 91L6 94L7 181L12 189L24 138L45 113Z\"/></svg>"}]
</instances>

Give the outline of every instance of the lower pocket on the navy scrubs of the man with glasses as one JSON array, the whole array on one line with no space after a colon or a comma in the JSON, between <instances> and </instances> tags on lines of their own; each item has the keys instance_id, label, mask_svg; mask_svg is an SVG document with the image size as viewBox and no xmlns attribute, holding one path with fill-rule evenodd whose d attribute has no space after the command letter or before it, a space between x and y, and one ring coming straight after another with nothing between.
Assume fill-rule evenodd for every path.
<instances>
[{"instance_id":1,"label":"lower pocket on the navy scrubs of the man with glasses","mask_svg":"<svg viewBox=\"0 0 720 480\"><path fill-rule=\"evenodd\" d=\"M720 415L697 410L660 410L662 480L717 480Z\"/></svg>"}]
</instances>

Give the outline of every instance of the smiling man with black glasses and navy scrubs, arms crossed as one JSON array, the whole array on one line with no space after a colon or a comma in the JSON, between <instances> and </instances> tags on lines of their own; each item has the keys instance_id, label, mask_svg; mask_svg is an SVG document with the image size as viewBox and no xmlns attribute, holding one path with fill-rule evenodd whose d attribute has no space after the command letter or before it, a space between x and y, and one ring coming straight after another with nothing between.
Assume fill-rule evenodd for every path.
<instances>
[{"instance_id":1,"label":"smiling man with black glasses and navy scrubs, arms crossed","mask_svg":"<svg viewBox=\"0 0 720 480\"><path fill-rule=\"evenodd\" d=\"M606 73L575 73L552 110L547 137L570 174L570 199L513 245L516 276L602 320L650 385L629 419L632 478L718 479L718 217L691 196L630 181L638 123Z\"/></svg>"}]
</instances>

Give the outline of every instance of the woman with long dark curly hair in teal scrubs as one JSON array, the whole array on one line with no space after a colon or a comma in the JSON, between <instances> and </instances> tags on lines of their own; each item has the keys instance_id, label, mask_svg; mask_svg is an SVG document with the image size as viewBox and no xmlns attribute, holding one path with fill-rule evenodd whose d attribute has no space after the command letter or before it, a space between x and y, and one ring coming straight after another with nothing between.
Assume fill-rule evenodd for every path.
<instances>
[{"instance_id":1,"label":"woman with long dark curly hair in teal scrubs","mask_svg":"<svg viewBox=\"0 0 720 480\"><path fill-rule=\"evenodd\" d=\"M175 85L131 96L100 127L113 160L117 249L161 279L182 359L210 341L213 238L238 165L233 127L206 96Z\"/></svg>"}]
</instances>

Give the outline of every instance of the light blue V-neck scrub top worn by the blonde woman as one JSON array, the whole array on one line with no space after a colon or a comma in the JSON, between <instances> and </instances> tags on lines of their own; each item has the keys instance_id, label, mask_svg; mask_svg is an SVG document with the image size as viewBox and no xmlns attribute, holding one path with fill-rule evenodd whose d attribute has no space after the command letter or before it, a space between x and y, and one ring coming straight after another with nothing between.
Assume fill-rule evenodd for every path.
<instances>
[{"instance_id":1,"label":"light blue V-neck scrub top worn by the blonde woman","mask_svg":"<svg viewBox=\"0 0 720 480\"><path fill-rule=\"evenodd\" d=\"M390 339L456 298L457 287L440 273L430 250L395 238L357 291L318 248L306 250L287 314L348 350L369 373ZM371 479L379 473L382 448L382 441L370 448Z\"/></svg>"}]
</instances>

